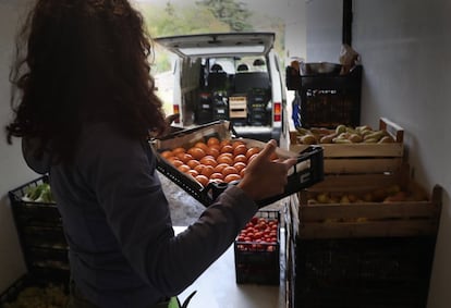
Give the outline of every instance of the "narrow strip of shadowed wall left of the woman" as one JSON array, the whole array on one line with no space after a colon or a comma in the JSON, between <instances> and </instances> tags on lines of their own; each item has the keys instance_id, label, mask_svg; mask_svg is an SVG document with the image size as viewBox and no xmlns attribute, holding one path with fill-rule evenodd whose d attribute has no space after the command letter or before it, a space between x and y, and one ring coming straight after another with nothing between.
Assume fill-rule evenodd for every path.
<instances>
[{"instance_id":1,"label":"narrow strip of shadowed wall left of the woman","mask_svg":"<svg viewBox=\"0 0 451 308\"><path fill-rule=\"evenodd\" d=\"M8 192L36 178L25 165L20 143L9 146L4 125L11 119L9 71L17 17L25 1L0 0L0 294L25 273Z\"/></svg>"}]
</instances>

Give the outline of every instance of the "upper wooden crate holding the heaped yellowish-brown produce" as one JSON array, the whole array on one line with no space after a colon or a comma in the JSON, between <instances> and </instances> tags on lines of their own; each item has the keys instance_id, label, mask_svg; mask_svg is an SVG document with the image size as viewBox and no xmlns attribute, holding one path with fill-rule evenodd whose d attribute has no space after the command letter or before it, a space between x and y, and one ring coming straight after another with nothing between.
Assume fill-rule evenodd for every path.
<instances>
[{"instance_id":1,"label":"upper wooden crate holding the heaped yellowish-brown produce","mask_svg":"<svg viewBox=\"0 0 451 308\"><path fill-rule=\"evenodd\" d=\"M320 144L324 148L325 174L394 172L403 163L404 130L381 118L379 130L395 140L391 144ZM290 132L290 150L301 152L308 145L298 144L297 133Z\"/></svg>"}]
</instances>

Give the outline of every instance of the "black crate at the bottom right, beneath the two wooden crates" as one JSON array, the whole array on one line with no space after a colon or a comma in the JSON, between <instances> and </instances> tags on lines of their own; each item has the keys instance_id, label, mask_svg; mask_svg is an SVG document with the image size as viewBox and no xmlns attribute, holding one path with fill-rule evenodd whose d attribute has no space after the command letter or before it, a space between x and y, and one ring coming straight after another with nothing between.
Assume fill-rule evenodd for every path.
<instances>
[{"instance_id":1,"label":"black crate at the bottom right, beneath the two wooden crates","mask_svg":"<svg viewBox=\"0 0 451 308\"><path fill-rule=\"evenodd\" d=\"M426 307L434 237L296 243L296 308Z\"/></svg>"}]
</instances>

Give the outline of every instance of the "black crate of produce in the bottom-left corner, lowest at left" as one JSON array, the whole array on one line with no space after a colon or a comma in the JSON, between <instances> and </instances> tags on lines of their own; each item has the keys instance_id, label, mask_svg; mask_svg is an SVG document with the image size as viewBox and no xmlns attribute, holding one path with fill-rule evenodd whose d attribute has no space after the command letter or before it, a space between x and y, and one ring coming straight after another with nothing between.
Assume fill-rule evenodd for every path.
<instances>
[{"instance_id":1,"label":"black crate of produce in the bottom-left corner, lowest at left","mask_svg":"<svg viewBox=\"0 0 451 308\"><path fill-rule=\"evenodd\" d=\"M45 279L42 279L45 276ZM33 289L29 289L33 288ZM39 307L53 307L53 308L65 308L66 300L69 299L69 278L68 276L58 276L54 275L52 272L47 272L45 275L39 278L33 274L25 274L16 282L14 282L9 288L7 288L0 295L0 307L10 307L10 305L16 305L19 296L25 296L25 292L28 296L36 295L39 296L41 299L39 304L46 306ZM49 296L46 296L46 292L49 292ZM60 301L51 300L50 297L54 298L56 293L60 296ZM22 295L21 295L22 294ZM20 306L20 307L29 307L35 308L37 307L36 296L34 297L34 301L31 303L28 306ZM22 303L23 304L23 303ZM60 304L60 305L57 305ZM17 307L17 306L12 306Z\"/></svg>"}]
</instances>

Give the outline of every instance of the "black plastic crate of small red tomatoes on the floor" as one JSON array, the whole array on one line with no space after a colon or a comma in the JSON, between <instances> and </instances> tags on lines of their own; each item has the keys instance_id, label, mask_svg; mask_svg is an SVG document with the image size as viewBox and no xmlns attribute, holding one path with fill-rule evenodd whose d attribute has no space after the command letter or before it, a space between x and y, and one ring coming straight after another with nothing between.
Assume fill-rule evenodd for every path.
<instances>
[{"instance_id":1,"label":"black plastic crate of small red tomatoes on the floor","mask_svg":"<svg viewBox=\"0 0 451 308\"><path fill-rule=\"evenodd\" d=\"M253 284L270 284L279 285L280 283L280 212L277 210L259 210L253 218L258 222L258 219L266 221L266 226L271 229L269 221L277 222L276 234L268 242L258 241L261 238L255 235L254 238L247 238L239 235L234 242L234 257L235 257L235 275L236 283L253 283ZM251 229L252 221L246 225ZM258 225L258 224L257 224ZM243 229L243 232L244 230ZM261 229L259 232L264 232Z\"/></svg>"}]
</instances>

